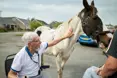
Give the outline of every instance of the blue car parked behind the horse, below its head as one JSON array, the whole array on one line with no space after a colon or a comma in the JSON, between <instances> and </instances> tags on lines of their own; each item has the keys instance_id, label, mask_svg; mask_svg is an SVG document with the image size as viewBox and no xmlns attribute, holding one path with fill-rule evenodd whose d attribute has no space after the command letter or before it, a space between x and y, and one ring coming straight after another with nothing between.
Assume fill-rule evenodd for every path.
<instances>
[{"instance_id":1,"label":"blue car parked behind the horse, below its head","mask_svg":"<svg viewBox=\"0 0 117 78\"><path fill-rule=\"evenodd\" d=\"M97 42L93 40L92 38L88 37L86 34L80 35L77 42L79 42L82 45L98 47Z\"/></svg>"}]
</instances>

